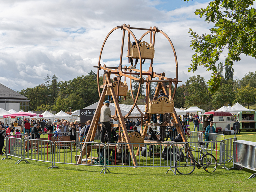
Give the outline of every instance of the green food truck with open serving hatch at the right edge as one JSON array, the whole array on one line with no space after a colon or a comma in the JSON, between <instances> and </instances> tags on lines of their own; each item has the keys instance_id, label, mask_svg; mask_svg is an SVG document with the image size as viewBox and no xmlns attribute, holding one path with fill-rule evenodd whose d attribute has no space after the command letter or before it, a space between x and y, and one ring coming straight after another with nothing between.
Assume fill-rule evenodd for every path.
<instances>
[{"instance_id":1,"label":"green food truck with open serving hatch at the right edge","mask_svg":"<svg viewBox=\"0 0 256 192\"><path fill-rule=\"evenodd\" d=\"M240 130L256 131L255 111L241 111L237 113L237 119L240 122Z\"/></svg>"}]
</instances>

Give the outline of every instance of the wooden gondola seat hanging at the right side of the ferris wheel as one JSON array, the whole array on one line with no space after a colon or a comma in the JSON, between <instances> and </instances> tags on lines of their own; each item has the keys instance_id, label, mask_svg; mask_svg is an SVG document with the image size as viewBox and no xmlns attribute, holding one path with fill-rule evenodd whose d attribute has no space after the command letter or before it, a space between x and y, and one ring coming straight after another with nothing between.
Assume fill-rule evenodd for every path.
<instances>
[{"instance_id":1,"label":"wooden gondola seat hanging at the right side of the ferris wheel","mask_svg":"<svg viewBox=\"0 0 256 192\"><path fill-rule=\"evenodd\" d=\"M174 108L174 103L172 100L172 97L169 95L169 98L162 96L157 98L157 100L150 101L148 97L148 110L146 110L145 106L145 111L146 113L149 114L164 114L164 113L173 113L173 108Z\"/></svg>"}]
</instances>

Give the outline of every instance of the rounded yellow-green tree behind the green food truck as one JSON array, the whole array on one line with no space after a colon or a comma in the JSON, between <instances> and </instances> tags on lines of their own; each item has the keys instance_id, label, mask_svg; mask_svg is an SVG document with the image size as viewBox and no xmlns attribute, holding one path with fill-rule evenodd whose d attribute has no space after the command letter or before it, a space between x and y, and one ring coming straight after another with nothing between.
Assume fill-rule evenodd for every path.
<instances>
[{"instance_id":1,"label":"rounded yellow-green tree behind the green food truck","mask_svg":"<svg viewBox=\"0 0 256 192\"><path fill-rule=\"evenodd\" d=\"M236 90L236 100L234 102L240 102L248 106L255 103L256 100L256 88L246 85L242 86L241 89Z\"/></svg>"}]
</instances>

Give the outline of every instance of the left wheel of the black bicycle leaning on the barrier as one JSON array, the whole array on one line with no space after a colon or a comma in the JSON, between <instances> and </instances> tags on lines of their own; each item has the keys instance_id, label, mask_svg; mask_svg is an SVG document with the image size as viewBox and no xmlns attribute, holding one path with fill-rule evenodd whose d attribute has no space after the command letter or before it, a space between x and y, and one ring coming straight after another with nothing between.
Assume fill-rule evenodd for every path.
<instances>
[{"instance_id":1,"label":"left wheel of the black bicycle leaning on the barrier","mask_svg":"<svg viewBox=\"0 0 256 192\"><path fill-rule=\"evenodd\" d=\"M175 169L182 175L189 175L195 170L195 162L188 156L182 156L175 162Z\"/></svg>"}]
</instances>

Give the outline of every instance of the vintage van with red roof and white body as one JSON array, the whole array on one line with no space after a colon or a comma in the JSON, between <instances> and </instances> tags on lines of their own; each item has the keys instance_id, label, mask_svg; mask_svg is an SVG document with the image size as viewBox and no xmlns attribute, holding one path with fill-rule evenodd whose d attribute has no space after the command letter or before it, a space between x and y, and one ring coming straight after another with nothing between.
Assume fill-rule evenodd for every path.
<instances>
[{"instance_id":1,"label":"vintage van with red roof and white body","mask_svg":"<svg viewBox=\"0 0 256 192\"><path fill-rule=\"evenodd\" d=\"M225 128L228 130L233 129L233 124L235 123L234 116L229 112L223 111L208 111L205 112L202 116L202 124L203 124L203 131L208 125L210 125L210 121L213 121L216 124L215 132L225 131Z\"/></svg>"}]
</instances>

